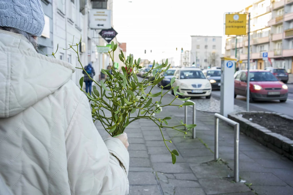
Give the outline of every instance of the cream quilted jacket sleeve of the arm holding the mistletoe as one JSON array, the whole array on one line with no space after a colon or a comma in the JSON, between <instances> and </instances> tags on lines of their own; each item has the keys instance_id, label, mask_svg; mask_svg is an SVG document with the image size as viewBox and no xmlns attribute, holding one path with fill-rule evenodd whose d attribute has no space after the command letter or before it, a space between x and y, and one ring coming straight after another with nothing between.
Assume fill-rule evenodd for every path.
<instances>
[{"instance_id":1,"label":"cream quilted jacket sleeve of the arm holding the mistletoe","mask_svg":"<svg viewBox=\"0 0 293 195\"><path fill-rule=\"evenodd\" d=\"M128 194L129 154L118 138L102 140L84 94L65 132L71 194Z\"/></svg>"}]
</instances>

